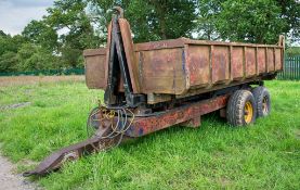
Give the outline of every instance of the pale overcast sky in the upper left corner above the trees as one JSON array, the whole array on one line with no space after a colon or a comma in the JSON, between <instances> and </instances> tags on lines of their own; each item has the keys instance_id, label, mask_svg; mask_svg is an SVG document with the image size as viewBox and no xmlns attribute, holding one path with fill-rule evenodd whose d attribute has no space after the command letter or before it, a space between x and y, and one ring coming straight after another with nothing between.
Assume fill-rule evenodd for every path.
<instances>
[{"instance_id":1,"label":"pale overcast sky in the upper left corner above the trees","mask_svg":"<svg viewBox=\"0 0 300 190\"><path fill-rule=\"evenodd\" d=\"M53 0L0 0L0 30L21 34L31 20L40 20Z\"/></svg>"}]
</instances>

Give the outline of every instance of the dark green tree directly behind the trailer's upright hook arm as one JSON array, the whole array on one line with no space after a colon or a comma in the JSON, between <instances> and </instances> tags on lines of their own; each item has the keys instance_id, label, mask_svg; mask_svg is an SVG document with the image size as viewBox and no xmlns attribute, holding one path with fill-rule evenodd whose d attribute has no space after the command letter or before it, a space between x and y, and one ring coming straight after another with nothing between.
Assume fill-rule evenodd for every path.
<instances>
[{"instance_id":1,"label":"dark green tree directly behind the trailer's upright hook arm","mask_svg":"<svg viewBox=\"0 0 300 190\"><path fill-rule=\"evenodd\" d=\"M190 37L196 20L195 0L90 0L99 21L108 25L115 5L125 9L135 42ZM104 23L104 21L106 23ZM105 28L102 33L105 33Z\"/></svg>"}]
</instances>

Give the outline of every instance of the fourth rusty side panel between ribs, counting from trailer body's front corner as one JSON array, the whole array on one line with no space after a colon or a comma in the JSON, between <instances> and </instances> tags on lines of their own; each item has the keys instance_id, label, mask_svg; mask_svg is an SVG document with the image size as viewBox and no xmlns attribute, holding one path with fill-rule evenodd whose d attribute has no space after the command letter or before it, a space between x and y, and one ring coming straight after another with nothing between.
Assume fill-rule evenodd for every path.
<instances>
[{"instance_id":1,"label":"fourth rusty side panel between ribs, counting from trailer body's front corner","mask_svg":"<svg viewBox=\"0 0 300 190\"><path fill-rule=\"evenodd\" d=\"M246 48L245 62L246 78L256 75L256 48Z\"/></svg>"}]
</instances>

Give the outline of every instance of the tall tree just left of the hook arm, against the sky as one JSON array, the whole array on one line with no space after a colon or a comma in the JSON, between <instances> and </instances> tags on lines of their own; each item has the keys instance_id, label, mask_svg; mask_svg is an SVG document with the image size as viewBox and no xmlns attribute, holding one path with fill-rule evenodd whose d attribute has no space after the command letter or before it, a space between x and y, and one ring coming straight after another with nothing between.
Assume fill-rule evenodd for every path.
<instances>
[{"instance_id":1,"label":"tall tree just left of the hook arm, against the sky","mask_svg":"<svg viewBox=\"0 0 300 190\"><path fill-rule=\"evenodd\" d=\"M87 5L84 0L64 0L54 1L53 8L48 9L45 22L56 31L66 30L60 40L69 43L70 48L83 50L100 46L91 18L86 12Z\"/></svg>"}]
</instances>

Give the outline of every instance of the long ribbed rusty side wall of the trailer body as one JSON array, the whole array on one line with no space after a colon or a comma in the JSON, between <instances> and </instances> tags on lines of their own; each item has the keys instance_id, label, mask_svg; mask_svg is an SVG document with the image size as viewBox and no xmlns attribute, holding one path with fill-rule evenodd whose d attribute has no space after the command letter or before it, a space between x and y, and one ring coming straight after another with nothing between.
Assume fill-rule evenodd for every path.
<instances>
[{"instance_id":1,"label":"long ribbed rusty side wall of the trailer body","mask_svg":"<svg viewBox=\"0 0 300 190\"><path fill-rule=\"evenodd\" d=\"M186 45L190 89L229 85L283 68L283 49L264 46Z\"/></svg>"}]
</instances>

